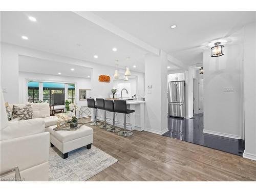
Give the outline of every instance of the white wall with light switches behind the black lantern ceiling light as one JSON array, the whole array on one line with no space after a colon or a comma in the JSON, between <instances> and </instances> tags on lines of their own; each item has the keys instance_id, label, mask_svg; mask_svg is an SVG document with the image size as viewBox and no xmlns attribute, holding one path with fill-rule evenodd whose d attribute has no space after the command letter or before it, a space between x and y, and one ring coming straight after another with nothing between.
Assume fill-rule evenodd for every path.
<instances>
[{"instance_id":1,"label":"white wall with light switches behind the black lantern ceiling light","mask_svg":"<svg viewBox=\"0 0 256 192\"><path fill-rule=\"evenodd\" d=\"M220 57L210 54L210 48L204 50L204 132L241 138L242 45L225 45ZM224 92L230 87L234 92Z\"/></svg>"}]
</instances>

